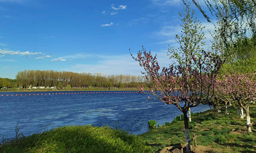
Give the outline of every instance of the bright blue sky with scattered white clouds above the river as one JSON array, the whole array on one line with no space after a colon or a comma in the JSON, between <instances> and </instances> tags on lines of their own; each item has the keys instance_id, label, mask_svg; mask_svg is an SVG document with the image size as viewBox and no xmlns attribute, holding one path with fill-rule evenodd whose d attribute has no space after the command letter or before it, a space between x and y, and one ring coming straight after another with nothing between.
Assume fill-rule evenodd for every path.
<instances>
[{"instance_id":1,"label":"bright blue sky with scattered white clouds above the river","mask_svg":"<svg viewBox=\"0 0 256 153\"><path fill-rule=\"evenodd\" d=\"M195 16L206 26L199 11ZM23 70L141 75L130 56L142 46L168 66L178 47L181 0L0 0L0 77ZM130 51L129 51L130 49Z\"/></svg>"}]
</instances>

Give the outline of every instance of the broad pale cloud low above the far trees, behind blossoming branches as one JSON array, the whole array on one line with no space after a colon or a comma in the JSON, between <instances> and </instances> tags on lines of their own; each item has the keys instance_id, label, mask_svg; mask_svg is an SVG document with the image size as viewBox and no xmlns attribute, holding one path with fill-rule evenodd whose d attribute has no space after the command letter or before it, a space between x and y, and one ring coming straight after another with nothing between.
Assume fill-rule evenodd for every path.
<instances>
[{"instance_id":1,"label":"broad pale cloud low above the far trees, behind blossoming branches","mask_svg":"<svg viewBox=\"0 0 256 153\"><path fill-rule=\"evenodd\" d=\"M132 52L133 56L137 55L137 52ZM152 52L153 55L158 54L158 62L162 66L168 66L172 63L172 60L167 56L167 50L161 50L159 52ZM141 71L144 69L139 66L139 63L132 59L130 54L124 54L120 56L104 56L96 64L74 64L69 68L63 69L64 71L73 72L90 72L92 73L104 73L109 75L135 75L142 76Z\"/></svg>"}]
</instances>

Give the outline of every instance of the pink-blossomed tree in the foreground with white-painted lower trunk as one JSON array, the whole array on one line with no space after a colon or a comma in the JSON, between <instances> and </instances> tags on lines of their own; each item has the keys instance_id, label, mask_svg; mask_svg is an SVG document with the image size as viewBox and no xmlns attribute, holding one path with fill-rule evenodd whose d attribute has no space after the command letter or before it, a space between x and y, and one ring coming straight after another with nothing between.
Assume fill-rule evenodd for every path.
<instances>
[{"instance_id":1,"label":"pink-blossomed tree in the foreground with white-painted lower trunk","mask_svg":"<svg viewBox=\"0 0 256 153\"><path fill-rule=\"evenodd\" d=\"M182 34L176 35L180 47L168 50L170 58L176 59L169 68L162 68L156 56L146 50L139 51L133 57L145 70L146 78L153 82L151 94L166 104L176 106L184 114L185 140L189 140L188 111L200 103L206 104L214 94L214 82L223 61L216 53L206 52L202 46L204 34L201 23L193 19L194 11L190 14L189 6L181 14L183 22ZM143 87L141 88L143 92ZM191 152L190 145L187 152Z\"/></svg>"}]
</instances>

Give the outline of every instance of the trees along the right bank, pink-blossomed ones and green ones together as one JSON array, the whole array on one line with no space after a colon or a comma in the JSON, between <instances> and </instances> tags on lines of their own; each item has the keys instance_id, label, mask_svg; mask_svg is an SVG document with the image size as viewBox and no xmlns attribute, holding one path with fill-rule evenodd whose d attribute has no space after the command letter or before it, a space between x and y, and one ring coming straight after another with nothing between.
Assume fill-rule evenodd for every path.
<instances>
[{"instance_id":1,"label":"trees along the right bank, pink-blossomed ones and green ones together","mask_svg":"<svg viewBox=\"0 0 256 153\"><path fill-rule=\"evenodd\" d=\"M194 13L190 13L189 5L183 2L186 14L181 15L182 34L176 35L180 46L168 50L168 56L177 62L160 69L156 56L144 48L133 57L154 84L151 94L176 106L184 114L186 142L189 140L187 113L189 108L201 103L217 105L230 101L235 107L242 107L246 112L248 132L252 132L249 103L256 98L255 1L205 0L209 9L206 11L193 0L209 22L212 22L209 16L216 16L212 46L207 51L203 48L204 27L193 19ZM141 90L143 92L143 85ZM190 145L187 152L191 152Z\"/></svg>"}]
</instances>

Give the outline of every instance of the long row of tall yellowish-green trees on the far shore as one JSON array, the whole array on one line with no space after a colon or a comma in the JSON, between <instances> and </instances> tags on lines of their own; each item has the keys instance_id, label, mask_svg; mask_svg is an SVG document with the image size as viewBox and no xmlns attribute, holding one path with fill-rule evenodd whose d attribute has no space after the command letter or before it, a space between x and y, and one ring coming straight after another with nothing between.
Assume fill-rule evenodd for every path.
<instances>
[{"instance_id":1,"label":"long row of tall yellowish-green trees on the far shore","mask_svg":"<svg viewBox=\"0 0 256 153\"><path fill-rule=\"evenodd\" d=\"M18 87L67 87L67 88L138 88L141 83L150 83L141 76L99 76L74 72L24 70L16 75Z\"/></svg>"}]
</instances>

